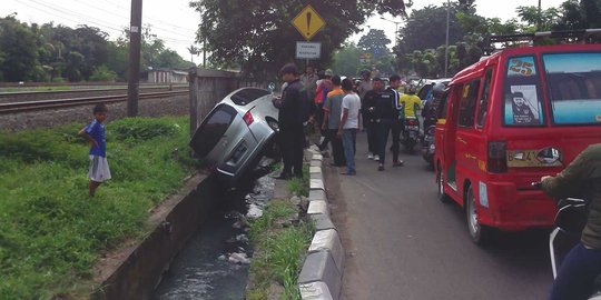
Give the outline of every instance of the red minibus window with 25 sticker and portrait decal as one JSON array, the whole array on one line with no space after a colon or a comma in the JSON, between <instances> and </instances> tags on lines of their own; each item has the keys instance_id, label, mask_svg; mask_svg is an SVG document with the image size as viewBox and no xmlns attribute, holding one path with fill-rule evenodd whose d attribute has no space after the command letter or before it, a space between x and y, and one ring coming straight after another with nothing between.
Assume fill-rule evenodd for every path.
<instances>
[{"instance_id":1,"label":"red minibus window with 25 sticker and portrait decal","mask_svg":"<svg viewBox=\"0 0 601 300\"><path fill-rule=\"evenodd\" d=\"M505 126L532 127L544 123L540 79L534 57L508 60L503 112Z\"/></svg>"}]
</instances>

